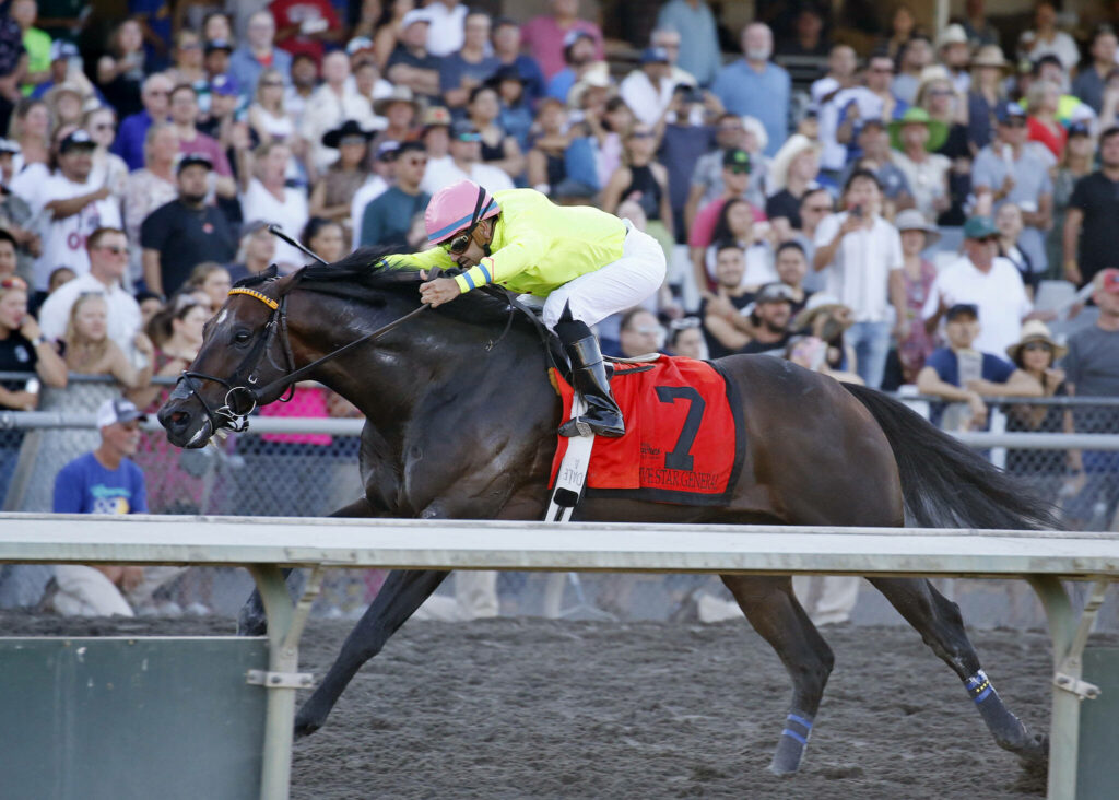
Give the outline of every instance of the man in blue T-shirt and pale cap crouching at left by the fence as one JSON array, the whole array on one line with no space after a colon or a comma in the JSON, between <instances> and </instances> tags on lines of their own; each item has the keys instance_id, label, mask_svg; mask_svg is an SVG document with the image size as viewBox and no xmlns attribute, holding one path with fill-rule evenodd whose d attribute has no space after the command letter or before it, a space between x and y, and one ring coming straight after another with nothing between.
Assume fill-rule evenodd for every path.
<instances>
[{"instance_id":1,"label":"man in blue T-shirt and pale cap crouching at left by the fence","mask_svg":"<svg viewBox=\"0 0 1119 800\"><path fill-rule=\"evenodd\" d=\"M101 444L63 467L55 478L56 514L145 514L148 492L143 472L129 457L140 444L144 415L123 397L107 399L97 408ZM150 600L153 592L182 570L154 567L150 574L139 566L81 566L59 564L44 605L65 617L132 617L133 602Z\"/></svg>"}]
</instances>

